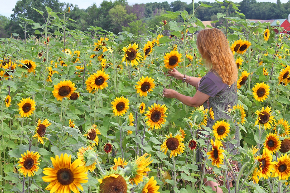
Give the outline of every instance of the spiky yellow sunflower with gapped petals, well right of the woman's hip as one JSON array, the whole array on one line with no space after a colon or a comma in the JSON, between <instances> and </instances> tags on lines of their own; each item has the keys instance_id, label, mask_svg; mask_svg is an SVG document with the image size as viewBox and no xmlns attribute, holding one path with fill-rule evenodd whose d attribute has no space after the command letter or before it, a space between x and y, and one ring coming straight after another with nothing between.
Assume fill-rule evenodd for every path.
<instances>
[{"instance_id":1,"label":"spiky yellow sunflower with gapped petals, well right of the woman's hip","mask_svg":"<svg viewBox=\"0 0 290 193\"><path fill-rule=\"evenodd\" d=\"M271 125L273 125L273 121L275 121L275 119L273 119L274 116L271 116L271 107L262 107L262 109L260 111L257 110L255 114L258 115L255 125L259 123L259 129L263 126L265 130L271 128Z\"/></svg>"}]
</instances>

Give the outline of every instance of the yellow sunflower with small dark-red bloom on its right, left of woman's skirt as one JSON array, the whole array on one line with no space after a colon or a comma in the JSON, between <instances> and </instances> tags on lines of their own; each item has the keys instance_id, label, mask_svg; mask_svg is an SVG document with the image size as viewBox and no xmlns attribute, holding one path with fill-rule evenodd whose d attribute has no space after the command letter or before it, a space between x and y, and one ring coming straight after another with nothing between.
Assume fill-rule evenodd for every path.
<instances>
[{"instance_id":1,"label":"yellow sunflower with small dark-red bloom on its right, left of woman's skirt","mask_svg":"<svg viewBox=\"0 0 290 193\"><path fill-rule=\"evenodd\" d=\"M184 141L182 135L176 134L175 136L172 136L172 133L170 133L169 136L165 136L167 139L161 145L160 151L165 151L164 154L166 154L168 150L171 150L169 158L172 156L175 157L177 154L184 153L185 146L184 143L182 143L182 141Z\"/></svg>"}]
</instances>

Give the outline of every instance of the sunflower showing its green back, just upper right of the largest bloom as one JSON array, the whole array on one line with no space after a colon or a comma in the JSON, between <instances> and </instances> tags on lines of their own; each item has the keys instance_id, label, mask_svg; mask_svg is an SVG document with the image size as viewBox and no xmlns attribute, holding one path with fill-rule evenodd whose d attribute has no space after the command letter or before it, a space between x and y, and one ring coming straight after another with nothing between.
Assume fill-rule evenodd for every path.
<instances>
[{"instance_id":1,"label":"sunflower showing its green back, just upper right of the largest bloom","mask_svg":"<svg viewBox=\"0 0 290 193\"><path fill-rule=\"evenodd\" d=\"M81 160L81 164L79 164L79 166L84 166L84 170L86 172L88 172L88 170L90 170L90 172L93 172L96 168L97 162L92 162L90 158L95 156L96 152L93 150L92 146L88 146L86 148L79 148L79 152L77 152L77 158ZM90 163L90 165L88 165L88 163Z\"/></svg>"}]
</instances>

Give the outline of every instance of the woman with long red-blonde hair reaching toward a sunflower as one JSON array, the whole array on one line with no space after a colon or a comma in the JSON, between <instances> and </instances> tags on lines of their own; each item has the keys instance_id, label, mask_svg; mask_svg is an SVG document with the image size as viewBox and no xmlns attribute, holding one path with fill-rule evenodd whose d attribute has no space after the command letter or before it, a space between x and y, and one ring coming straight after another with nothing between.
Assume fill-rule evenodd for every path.
<instances>
[{"instance_id":1,"label":"woman with long red-blonde hair reaching toward a sunflower","mask_svg":"<svg viewBox=\"0 0 290 193\"><path fill-rule=\"evenodd\" d=\"M197 35L197 49L202 59L204 59L209 70L202 78L190 77L181 74L176 69L168 71L167 76L183 80L186 83L196 87L196 93L193 97L185 96L172 89L164 89L163 96L167 98L175 98L183 104L198 107L203 105L204 108L213 109L215 120L230 119L225 112L237 104L237 78L238 68L235 64L233 53L230 50L228 41L222 31L213 29L201 30ZM223 112L225 111L225 112ZM215 121L208 117L207 127L212 128ZM240 146L239 131L236 129L235 139L238 141L236 146ZM231 154L237 154L235 146L227 144ZM234 163L233 168L238 170L238 163ZM208 173L211 170L207 170ZM231 179L231 176L229 176ZM218 187L217 182L207 181L203 179L205 185L212 187L213 191L222 193L222 189ZM219 180L219 183L222 181ZM232 186L232 184L230 184Z\"/></svg>"}]
</instances>

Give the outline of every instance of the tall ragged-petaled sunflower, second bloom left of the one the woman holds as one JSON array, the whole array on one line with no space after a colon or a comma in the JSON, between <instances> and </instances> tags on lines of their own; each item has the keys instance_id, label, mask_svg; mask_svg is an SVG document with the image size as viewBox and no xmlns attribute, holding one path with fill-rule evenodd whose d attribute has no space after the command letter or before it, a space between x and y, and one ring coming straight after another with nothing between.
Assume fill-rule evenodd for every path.
<instances>
[{"instance_id":1,"label":"tall ragged-petaled sunflower, second bloom left of the one the woman holds","mask_svg":"<svg viewBox=\"0 0 290 193\"><path fill-rule=\"evenodd\" d=\"M126 60L126 66L131 61L132 67L135 65L138 65L138 62L140 62L140 59L142 59L141 53L138 53L138 44L134 43L131 45L129 44L128 48L124 47L122 49L125 52L125 55L122 59L122 62ZM138 61L138 62L137 62Z\"/></svg>"}]
</instances>

